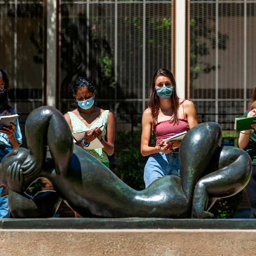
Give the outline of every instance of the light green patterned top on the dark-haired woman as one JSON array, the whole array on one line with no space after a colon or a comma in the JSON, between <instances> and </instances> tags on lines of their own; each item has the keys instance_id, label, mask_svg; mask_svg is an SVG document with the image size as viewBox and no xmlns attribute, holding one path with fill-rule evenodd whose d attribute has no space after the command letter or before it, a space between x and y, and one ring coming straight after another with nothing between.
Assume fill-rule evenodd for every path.
<instances>
[{"instance_id":1,"label":"light green patterned top on the dark-haired woman","mask_svg":"<svg viewBox=\"0 0 256 256\"><path fill-rule=\"evenodd\" d=\"M99 119L95 123L93 123L93 125L90 127L90 129L73 112L68 112L68 114L71 119L73 133L82 132L82 131L90 131L90 130L95 129L96 127L99 127L103 124L103 126L100 129L102 131L102 138L105 139L106 122L108 120L109 110L105 110L101 114ZM74 142L76 142L76 141L74 140ZM95 150L86 150L86 151L88 153L92 154L94 157L96 157L102 163L109 162L108 156L102 150L102 148L95 148Z\"/></svg>"}]
</instances>

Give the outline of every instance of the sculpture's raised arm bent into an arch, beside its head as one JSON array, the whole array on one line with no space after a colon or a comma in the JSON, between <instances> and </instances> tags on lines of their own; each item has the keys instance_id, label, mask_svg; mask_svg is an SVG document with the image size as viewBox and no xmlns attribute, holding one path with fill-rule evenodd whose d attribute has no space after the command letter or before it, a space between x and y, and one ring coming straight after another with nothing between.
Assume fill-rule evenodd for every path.
<instances>
[{"instance_id":1,"label":"sculpture's raised arm bent into an arch, beside its head","mask_svg":"<svg viewBox=\"0 0 256 256\"><path fill-rule=\"evenodd\" d=\"M28 116L25 130L29 152L36 161L30 176L39 173L45 163L47 144L56 172L65 175L73 153L73 137L62 114L51 106L42 106Z\"/></svg>"}]
</instances>

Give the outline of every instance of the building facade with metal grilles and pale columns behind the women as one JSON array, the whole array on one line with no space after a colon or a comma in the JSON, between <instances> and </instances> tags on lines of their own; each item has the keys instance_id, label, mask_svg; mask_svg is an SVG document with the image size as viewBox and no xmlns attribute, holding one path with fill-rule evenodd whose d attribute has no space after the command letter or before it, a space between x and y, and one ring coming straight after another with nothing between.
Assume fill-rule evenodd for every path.
<instances>
[{"instance_id":1,"label":"building facade with metal grilles and pale columns behind the women","mask_svg":"<svg viewBox=\"0 0 256 256\"><path fill-rule=\"evenodd\" d=\"M70 83L92 79L117 130L140 129L154 72L172 70L199 122L233 129L255 86L256 1L0 2L0 67L20 120L40 105L74 109Z\"/></svg>"}]
</instances>

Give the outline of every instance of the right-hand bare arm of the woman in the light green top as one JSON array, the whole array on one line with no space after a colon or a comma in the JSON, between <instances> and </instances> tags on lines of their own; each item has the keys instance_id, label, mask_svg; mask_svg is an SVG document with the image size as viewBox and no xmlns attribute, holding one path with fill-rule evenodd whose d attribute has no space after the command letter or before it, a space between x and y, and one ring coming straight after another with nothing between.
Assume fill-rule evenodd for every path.
<instances>
[{"instance_id":1,"label":"right-hand bare arm of the woman in the light green top","mask_svg":"<svg viewBox=\"0 0 256 256\"><path fill-rule=\"evenodd\" d=\"M95 131L99 131L97 134L97 138L101 139L102 131L96 127ZM114 144L115 144L115 117L112 112L109 111L108 121L106 123L106 136L105 139L101 141L103 144L102 150L109 156L114 154Z\"/></svg>"}]
</instances>

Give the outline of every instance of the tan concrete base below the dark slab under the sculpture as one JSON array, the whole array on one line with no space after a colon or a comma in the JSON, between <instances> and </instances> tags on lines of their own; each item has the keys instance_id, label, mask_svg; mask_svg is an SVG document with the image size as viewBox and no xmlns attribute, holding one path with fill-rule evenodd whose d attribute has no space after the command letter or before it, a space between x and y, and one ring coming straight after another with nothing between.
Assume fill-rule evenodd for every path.
<instances>
[{"instance_id":1,"label":"tan concrete base below the dark slab under the sculpture","mask_svg":"<svg viewBox=\"0 0 256 256\"><path fill-rule=\"evenodd\" d=\"M2 229L0 255L255 255L256 230Z\"/></svg>"}]
</instances>

